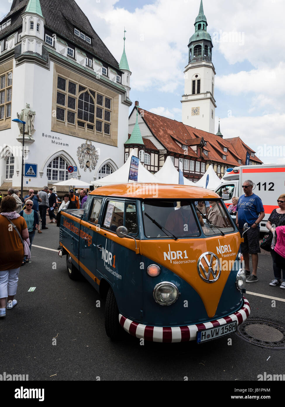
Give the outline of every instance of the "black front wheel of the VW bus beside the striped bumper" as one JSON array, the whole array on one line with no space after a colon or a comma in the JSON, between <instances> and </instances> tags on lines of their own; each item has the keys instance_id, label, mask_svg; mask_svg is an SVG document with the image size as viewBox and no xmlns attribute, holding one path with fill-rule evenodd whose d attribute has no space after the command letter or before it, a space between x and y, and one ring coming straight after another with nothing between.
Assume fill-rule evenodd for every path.
<instances>
[{"instance_id":1,"label":"black front wheel of the VW bus beside the striped bumper","mask_svg":"<svg viewBox=\"0 0 285 407\"><path fill-rule=\"evenodd\" d=\"M111 287L107 293L105 305L105 330L107 336L113 341L117 341L121 338L122 328L119 322L119 309Z\"/></svg>"}]
</instances>

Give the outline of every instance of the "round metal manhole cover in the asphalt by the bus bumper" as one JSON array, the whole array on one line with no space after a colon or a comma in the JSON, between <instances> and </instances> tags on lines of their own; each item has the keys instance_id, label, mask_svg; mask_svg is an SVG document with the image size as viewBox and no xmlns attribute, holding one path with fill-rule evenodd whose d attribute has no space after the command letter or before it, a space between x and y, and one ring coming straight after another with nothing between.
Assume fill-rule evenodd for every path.
<instances>
[{"instance_id":1,"label":"round metal manhole cover in the asphalt by the bus bumper","mask_svg":"<svg viewBox=\"0 0 285 407\"><path fill-rule=\"evenodd\" d=\"M237 335L262 348L285 349L285 328L265 319L248 318L237 327Z\"/></svg>"}]
</instances>

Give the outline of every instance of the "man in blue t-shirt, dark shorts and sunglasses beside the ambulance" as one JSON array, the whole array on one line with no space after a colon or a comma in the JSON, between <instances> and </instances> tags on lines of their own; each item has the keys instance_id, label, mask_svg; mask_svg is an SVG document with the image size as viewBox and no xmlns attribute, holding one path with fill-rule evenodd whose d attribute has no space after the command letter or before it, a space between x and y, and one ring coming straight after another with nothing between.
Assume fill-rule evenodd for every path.
<instances>
[{"instance_id":1,"label":"man in blue t-shirt, dark shorts and sunglasses beside the ambulance","mask_svg":"<svg viewBox=\"0 0 285 407\"><path fill-rule=\"evenodd\" d=\"M259 247L259 222L264 218L264 208L261 199L252 192L253 182L244 181L242 188L244 195L239 197L237 203L236 224L242 236L244 223L248 223L250 229L244 234L244 243L241 243L241 252L244 255L244 267L246 282L256 282ZM249 254L252 258L252 274L249 271Z\"/></svg>"}]
</instances>

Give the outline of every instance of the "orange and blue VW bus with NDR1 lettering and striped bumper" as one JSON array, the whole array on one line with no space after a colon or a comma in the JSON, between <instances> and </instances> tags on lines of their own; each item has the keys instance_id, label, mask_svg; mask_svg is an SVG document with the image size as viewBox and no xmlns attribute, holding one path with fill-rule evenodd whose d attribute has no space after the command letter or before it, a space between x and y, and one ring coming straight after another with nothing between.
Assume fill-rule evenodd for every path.
<instances>
[{"instance_id":1,"label":"orange and blue VW bus with NDR1 lettering and striped bumper","mask_svg":"<svg viewBox=\"0 0 285 407\"><path fill-rule=\"evenodd\" d=\"M202 343L235 332L250 306L241 236L220 197L185 185L120 184L63 210L60 242L72 279L106 297L111 339Z\"/></svg>"}]
</instances>

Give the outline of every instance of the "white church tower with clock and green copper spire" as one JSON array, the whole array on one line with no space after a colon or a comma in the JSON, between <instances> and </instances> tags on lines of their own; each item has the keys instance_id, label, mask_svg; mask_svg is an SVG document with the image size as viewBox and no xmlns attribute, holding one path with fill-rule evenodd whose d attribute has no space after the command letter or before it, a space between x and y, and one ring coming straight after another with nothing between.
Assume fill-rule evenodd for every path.
<instances>
[{"instance_id":1,"label":"white church tower with clock and green copper spire","mask_svg":"<svg viewBox=\"0 0 285 407\"><path fill-rule=\"evenodd\" d=\"M184 95L182 96L182 123L197 129L215 131L215 68L212 63L213 44L207 32L207 19L201 0L189 39L188 65L185 67Z\"/></svg>"}]
</instances>

